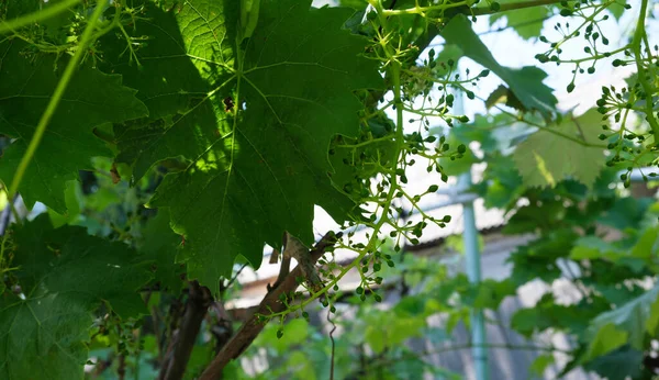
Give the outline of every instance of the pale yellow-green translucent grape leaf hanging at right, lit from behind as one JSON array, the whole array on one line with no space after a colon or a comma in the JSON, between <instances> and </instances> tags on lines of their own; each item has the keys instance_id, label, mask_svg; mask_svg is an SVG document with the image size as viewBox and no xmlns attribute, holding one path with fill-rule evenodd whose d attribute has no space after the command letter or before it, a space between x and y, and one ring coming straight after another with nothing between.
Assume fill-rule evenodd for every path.
<instances>
[{"instance_id":1,"label":"pale yellow-green translucent grape leaf hanging at right, lit from behind","mask_svg":"<svg viewBox=\"0 0 659 380\"><path fill-rule=\"evenodd\" d=\"M602 115L590 110L552 127L557 133L589 144L597 144ZM604 168L604 148L583 146L556 133L540 130L521 143L513 159L527 187L554 187L573 178L589 188Z\"/></svg>"}]
</instances>

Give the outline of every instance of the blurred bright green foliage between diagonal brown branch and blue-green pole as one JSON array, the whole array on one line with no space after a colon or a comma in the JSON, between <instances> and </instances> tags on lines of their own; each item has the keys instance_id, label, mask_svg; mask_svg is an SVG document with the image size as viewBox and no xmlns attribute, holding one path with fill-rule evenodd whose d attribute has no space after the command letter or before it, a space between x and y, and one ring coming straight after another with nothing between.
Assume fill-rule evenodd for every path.
<instances>
[{"instance_id":1,"label":"blurred bright green foliage between diagonal brown branch and blue-green pole","mask_svg":"<svg viewBox=\"0 0 659 380\"><path fill-rule=\"evenodd\" d=\"M400 283L404 278L411 287L425 284L424 290L393 302L390 310L381 310L372 299L360 301L354 293L336 294L336 312L330 314L332 323L337 325L333 334L334 355L327 334L302 318L292 320L283 326L273 322L268 324L246 358L261 357L259 348L263 348L260 350L267 353L268 362L272 366L252 378L324 379L334 358L337 379L417 379L424 373L440 379L460 379L458 373L424 360L424 356L431 355L433 349L415 353L407 348L420 337L428 338L438 350L448 343L449 335L445 328L426 323L428 316L445 310L435 293L448 280L446 268L436 260L412 255L404 255L402 260L400 255L394 255L393 259L400 265L386 273L391 283ZM399 290L392 289L393 292ZM317 317L327 318L326 310L310 310L310 314L315 313ZM353 317L353 313L357 315ZM283 331L281 338L277 337L279 331ZM233 378L247 376L238 371Z\"/></svg>"}]
</instances>

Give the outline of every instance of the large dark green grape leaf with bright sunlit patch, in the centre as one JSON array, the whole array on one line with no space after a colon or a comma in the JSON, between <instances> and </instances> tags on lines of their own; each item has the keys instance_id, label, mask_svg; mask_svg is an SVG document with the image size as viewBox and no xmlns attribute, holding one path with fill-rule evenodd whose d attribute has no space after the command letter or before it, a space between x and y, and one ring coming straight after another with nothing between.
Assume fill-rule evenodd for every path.
<instances>
[{"instance_id":1,"label":"large dark green grape leaf with bright sunlit patch, in the centre","mask_svg":"<svg viewBox=\"0 0 659 380\"><path fill-rule=\"evenodd\" d=\"M142 66L111 68L150 110L147 122L116 127L118 159L135 178L168 157L192 163L149 204L170 209L190 278L212 289L238 255L258 267L263 244L279 246L283 231L311 244L314 204L347 216L353 202L327 176L327 147L337 133L358 134L353 91L382 82L359 56L366 40L342 30L351 10L261 1L252 37L236 43L235 3L146 3L137 30L155 37L136 52Z\"/></svg>"}]
</instances>

